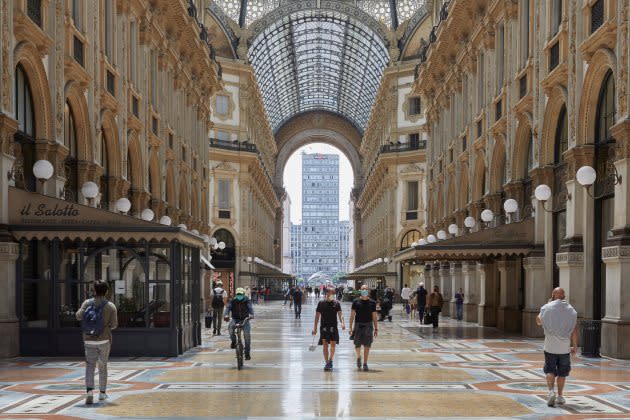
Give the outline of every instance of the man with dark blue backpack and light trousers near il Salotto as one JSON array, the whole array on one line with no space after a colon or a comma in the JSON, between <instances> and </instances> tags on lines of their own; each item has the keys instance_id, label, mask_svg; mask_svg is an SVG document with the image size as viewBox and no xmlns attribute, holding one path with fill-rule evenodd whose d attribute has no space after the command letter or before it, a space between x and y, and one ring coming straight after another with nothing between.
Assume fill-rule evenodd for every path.
<instances>
[{"instance_id":1,"label":"man with dark blue backpack and light trousers near il Salotto","mask_svg":"<svg viewBox=\"0 0 630 420\"><path fill-rule=\"evenodd\" d=\"M95 297L83 302L77 311L85 347L85 403L94 403L94 369L98 362L99 401L107 399L107 361L112 346L112 330L118 326L116 306L105 299L109 287L104 281L94 284Z\"/></svg>"}]
</instances>

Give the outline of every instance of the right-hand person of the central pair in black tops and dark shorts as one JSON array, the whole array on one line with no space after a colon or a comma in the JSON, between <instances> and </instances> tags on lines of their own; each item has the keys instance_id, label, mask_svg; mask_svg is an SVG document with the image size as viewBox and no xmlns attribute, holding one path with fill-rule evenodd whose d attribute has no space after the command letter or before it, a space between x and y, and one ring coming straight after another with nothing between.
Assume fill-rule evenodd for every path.
<instances>
[{"instance_id":1,"label":"right-hand person of the central pair in black tops and dark shorts","mask_svg":"<svg viewBox=\"0 0 630 420\"><path fill-rule=\"evenodd\" d=\"M361 286L361 297L352 302L350 314L350 337L353 337L357 355L357 368L361 369L361 347L363 347L363 370L368 370L367 360L374 337L378 335L376 302L370 299L367 285Z\"/></svg>"}]
</instances>

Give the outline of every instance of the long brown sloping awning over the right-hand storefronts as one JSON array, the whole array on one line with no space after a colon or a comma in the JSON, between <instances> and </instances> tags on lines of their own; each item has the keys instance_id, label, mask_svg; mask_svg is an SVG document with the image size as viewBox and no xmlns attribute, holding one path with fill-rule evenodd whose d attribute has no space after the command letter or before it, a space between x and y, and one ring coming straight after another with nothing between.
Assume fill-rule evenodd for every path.
<instances>
[{"instance_id":1,"label":"long brown sloping awning over the right-hand storefronts","mask_svg":"<svg viewBox=\"0 0 630 420\"><path fill-rule=\"evenodd\" d=\"M394 261L479 260L525 256L534 249L534 219L464 234L433 244L418 245L394 255Z\"/></svg>"}]
</instances>

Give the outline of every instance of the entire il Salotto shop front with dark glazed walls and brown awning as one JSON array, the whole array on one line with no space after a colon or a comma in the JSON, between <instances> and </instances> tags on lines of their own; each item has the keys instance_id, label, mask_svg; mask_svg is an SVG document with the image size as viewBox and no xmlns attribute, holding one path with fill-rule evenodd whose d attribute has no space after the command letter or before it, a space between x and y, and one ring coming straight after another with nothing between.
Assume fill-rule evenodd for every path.
<instances>
[{"instance_id":1,"label":"entire il Salotto shop front with dark glazed walls and brown awning","mask_svg":"<svg viewBox=\"0 0 630 420\"><path fill-rule=\"evenodd\" d=\"M201 344L203 238L15 188L9 197L21 355L81 355L74 314L96 280L118 309L112 355L176 356Z\"/></svg>"}]
</instances>

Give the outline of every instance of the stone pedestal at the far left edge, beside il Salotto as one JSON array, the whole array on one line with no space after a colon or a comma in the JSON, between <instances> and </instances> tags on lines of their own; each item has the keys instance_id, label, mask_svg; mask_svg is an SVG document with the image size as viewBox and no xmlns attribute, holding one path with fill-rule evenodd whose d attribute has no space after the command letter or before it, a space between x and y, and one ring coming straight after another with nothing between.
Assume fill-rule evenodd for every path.
<instances>
[{"instance_id":1,"label":"stone pedestal at the far left edge, beside il Salotto","mask_svg":"<svg viewBox=\"0 0 630 420\"><path fill-rule=\"evenodd\" d=\"M19 247L0 231L0 358L20 353L20 324L15 312L15 261Z\"/></svg>"}]
</instances>

